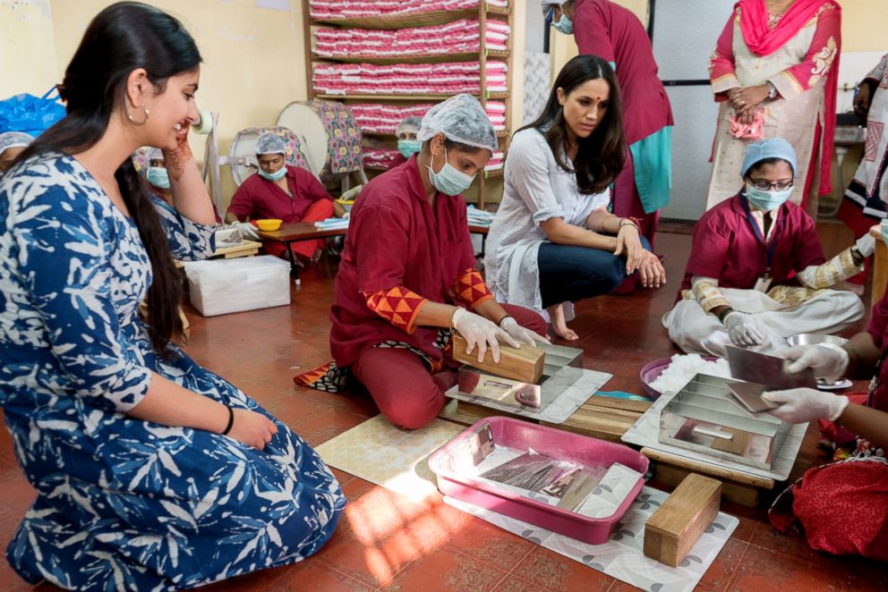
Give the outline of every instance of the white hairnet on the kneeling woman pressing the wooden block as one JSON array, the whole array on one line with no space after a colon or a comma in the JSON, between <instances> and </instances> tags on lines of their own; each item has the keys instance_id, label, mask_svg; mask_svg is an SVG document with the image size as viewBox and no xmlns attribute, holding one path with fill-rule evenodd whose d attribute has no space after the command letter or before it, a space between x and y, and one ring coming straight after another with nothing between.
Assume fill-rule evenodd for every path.
<instances>
[{"instance_id":1,"label":"white hairnet on the kneeling woman pressing the wooden block","mask_svg":"<svg viewBox=\"0 0 888 592\"><path fill-rule=\"evenodd\" d=\"M431 140L439 133L450 141L487 148L491 152L499 147L491 120L472 95L456 95L431 107L423 117L416 140Z\"/></svg>"}]
</instances>

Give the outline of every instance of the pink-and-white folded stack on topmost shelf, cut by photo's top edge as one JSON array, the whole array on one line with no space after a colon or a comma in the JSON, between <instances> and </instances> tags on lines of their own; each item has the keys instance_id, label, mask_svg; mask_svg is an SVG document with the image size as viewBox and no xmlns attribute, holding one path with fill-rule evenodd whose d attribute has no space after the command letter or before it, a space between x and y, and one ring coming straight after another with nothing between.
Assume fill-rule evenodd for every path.
<instances>
[{"instance_id":1,"label":"pink-and-white folded stack on topmost shelf, cut by photo's top edge","mask_svg":"<svg viewBox=\"0 0 888 592\"><path fill-rule=\"evenodd\" d=\"M310 0L312 19L332 21L372 16L403 16L445 10L476 8L481 0ZM489 6L508 6L508 0L487 0Z\"/></svg>"}]
</instances>

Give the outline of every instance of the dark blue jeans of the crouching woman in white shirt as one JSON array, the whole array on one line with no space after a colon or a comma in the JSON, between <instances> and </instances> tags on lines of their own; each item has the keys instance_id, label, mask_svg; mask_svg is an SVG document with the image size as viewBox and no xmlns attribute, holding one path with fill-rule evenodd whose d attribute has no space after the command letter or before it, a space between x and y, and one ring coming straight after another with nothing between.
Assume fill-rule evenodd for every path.
<instances>
[{"instance_id":1,"label":"dark blue jeans of the crouching woman in white shirt","mask_svg":"<svg viewBox=\"0 0 888 592\"><path fill-rule=\"evenodd\" d=\"M651 250L644 236L641 244ZM543 308L612 292L626 277L625 257L588 247L543 242L536 264L540 268Z\"/></svg>"}]
</instances>

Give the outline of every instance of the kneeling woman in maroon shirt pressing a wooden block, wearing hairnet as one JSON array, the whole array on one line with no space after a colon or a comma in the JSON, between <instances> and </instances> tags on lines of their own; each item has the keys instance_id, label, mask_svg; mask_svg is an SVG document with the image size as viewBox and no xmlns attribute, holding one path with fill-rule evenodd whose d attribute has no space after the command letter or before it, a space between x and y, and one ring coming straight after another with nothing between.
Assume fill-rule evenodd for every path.
<instances>
[{"instance_id":1,"label":"kneeling woman in maroon shirt pressing a wooden block, wearing hairnet","mask_svg":"<svg viewBox=\"0 0 888 592\"><path fill-rule=\"evenodd\" d=\"M296 382L340 390L346 377L364 385L398 427L435 419L456 385L450 334L458 331L478 359L499 343L544 341L533 311L499 305L475 269L465 200L497 136L471 95L450 97L423 117L422 149L373 179L351 216L330 309L335 362Z\"/></svg>"}]
</instances>

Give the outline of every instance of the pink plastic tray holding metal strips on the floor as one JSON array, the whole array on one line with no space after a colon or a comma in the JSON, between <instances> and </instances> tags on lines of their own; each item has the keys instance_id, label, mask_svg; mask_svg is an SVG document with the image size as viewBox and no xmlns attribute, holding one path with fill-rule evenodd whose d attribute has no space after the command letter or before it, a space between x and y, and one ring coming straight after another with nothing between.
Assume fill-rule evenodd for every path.
<instances>
[{"instance_id":1,"label":"pink plastic tray holding metal strips on the floor","mask_svg":"<svg viewBox=\"0 0 888 592\"><path fill-rule=\"evenodd\" d=\"M553 427L538 426L520 419L492 417L481 419L441 446L429 458L429 468L438 476L438 488L442 494L524 520L585 543L600 545L610 538L617 528L619 519L623 517L645 485L645 479L638 478L636 486L617 512L608 518L594 519L513 494L496 487L491 482L453 474L445 469L443 459L463 440L473 436L474 430L482 427L484 423L491 425L493 442L508 448L517 450L533 448L536 452L554 459L587 465L610 466L614 462L619 462L642 475L647 473L647 458L628 446L580 436Z\"/></svg>"}]
</instances>

